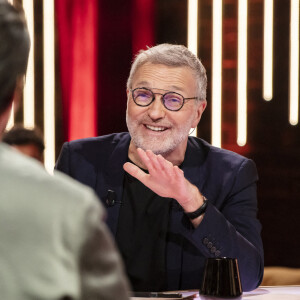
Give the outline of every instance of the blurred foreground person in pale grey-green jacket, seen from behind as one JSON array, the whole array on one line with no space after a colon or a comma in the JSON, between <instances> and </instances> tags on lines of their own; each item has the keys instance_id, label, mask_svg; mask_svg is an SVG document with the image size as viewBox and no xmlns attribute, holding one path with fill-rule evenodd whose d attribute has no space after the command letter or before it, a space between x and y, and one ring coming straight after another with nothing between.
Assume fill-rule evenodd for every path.
<instances>
[{"instance_id":1,"label":"blurred foreground person in pale grey-green jacket, seen from behind","mask_svg":"<svg viewBox=\"0 0 300 300\"><path fill-rule=\"evenodd\" d=\"M0 139L29 53L21 12L0 0ZM1 299L128 299L95 192L0 142Z\"/></svg>"}]
</instances>

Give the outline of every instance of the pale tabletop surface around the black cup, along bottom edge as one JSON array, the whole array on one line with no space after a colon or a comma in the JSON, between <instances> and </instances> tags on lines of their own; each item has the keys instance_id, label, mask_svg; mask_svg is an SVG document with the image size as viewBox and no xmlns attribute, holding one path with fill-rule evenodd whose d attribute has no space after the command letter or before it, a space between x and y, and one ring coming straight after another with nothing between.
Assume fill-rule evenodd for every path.
<instances>
[{"instance_id":1,"label":"pale tabletop surface around the black cup, along bottom edge","mask_svg":"<svg viewBox=\"0 0 300 300\"><path fill-rule=\"evenodd\" d=\"M197 294L194 299L199 300L217 300L220 298L203 297L198 294L198 291L179 291L183 297L188 297L193 294ZM163 299L163 298L131 298L132 300L139 299ZM167 298L164 298L167 299ZM244 292L243 295L238 298L239 300L300 300L300 286L260 286L252 292ZM170 298L169 298L170 300ZM226 299L229 300L229 299Z\"/></svg>"}]
</instances>

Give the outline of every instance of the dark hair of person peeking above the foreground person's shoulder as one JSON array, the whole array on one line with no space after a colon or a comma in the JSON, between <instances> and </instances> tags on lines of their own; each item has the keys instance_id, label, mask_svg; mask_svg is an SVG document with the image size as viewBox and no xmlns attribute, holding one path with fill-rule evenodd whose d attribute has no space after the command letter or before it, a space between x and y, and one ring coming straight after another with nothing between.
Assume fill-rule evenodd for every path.
<instances>
[{"instance_id":1,"label":"dark hair of person peeking above the foreground person's shoulder","mask_svg":"<svg viewBox=\"0 0 300 300\"><path fill-rule=\"evenodd\" d=\"M38 147L40 153L45 149L43 134L38 128L29 129L19 124L4 132L2 142L9 145L33 144Z\"/></svg>"}]
</instances>

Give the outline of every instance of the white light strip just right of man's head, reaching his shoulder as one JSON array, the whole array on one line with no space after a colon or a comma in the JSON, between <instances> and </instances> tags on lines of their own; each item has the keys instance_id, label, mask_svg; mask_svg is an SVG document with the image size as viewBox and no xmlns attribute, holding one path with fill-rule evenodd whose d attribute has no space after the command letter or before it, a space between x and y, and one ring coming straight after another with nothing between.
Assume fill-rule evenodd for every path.
<instances>
[{"instance_id":1,"label":"white light strip just right of man's head, reaching his shoulder","mask_svg":"<svg viewBox=\"0 0 300 300\"><path fill-rule=\"evenodd\" d=\"M222 0L213 1L212 145L221 147L222 120Z\"/></svg>"}]
</instances>

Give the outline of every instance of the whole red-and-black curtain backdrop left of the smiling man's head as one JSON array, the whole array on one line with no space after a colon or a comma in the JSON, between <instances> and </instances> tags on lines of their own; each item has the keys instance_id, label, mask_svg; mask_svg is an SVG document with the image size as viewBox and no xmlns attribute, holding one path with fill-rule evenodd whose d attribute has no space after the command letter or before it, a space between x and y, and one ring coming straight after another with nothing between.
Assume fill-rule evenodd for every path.
<instances>
[{"instance_id":1,"label":"whole red-and-black curtain backdrop left of the smiling man's head","mask_svg":"<svg viewBox=\"0 0 300 300\"><path fill-rule=\"evenodd\" d=\"M126 131L132 57L154 45L155 0L56 0L65 140Z\"/></svg>"}]
</instances>

